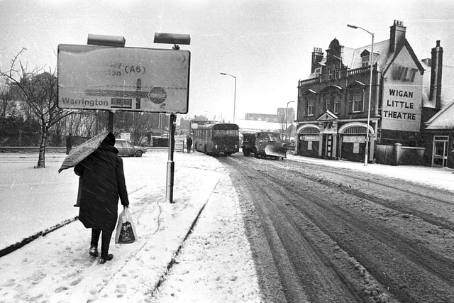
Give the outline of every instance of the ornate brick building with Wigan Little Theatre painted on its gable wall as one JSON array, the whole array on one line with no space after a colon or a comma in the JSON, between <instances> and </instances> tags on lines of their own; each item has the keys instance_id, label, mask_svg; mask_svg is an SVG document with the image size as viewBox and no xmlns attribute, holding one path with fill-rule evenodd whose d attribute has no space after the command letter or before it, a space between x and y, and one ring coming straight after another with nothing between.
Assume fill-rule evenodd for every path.
<instances>
[{"instance_id":1,"label":"ornate brick building with Wigan Little Theatre painted on its gable wall","mask_svg":"<svg viewBox=\"0 0 454 303\"><path fill-rule=\"evenodd\" d=\"M389 40L374 43L373 53L372 45L346 48L336 38L326 55L314 48L311 74L298 82L297 155L361 162L369 138L367 158L380 162L383 147L416 145L424 69L405 32L394 21Z\"/></svg>"}]
</instances>

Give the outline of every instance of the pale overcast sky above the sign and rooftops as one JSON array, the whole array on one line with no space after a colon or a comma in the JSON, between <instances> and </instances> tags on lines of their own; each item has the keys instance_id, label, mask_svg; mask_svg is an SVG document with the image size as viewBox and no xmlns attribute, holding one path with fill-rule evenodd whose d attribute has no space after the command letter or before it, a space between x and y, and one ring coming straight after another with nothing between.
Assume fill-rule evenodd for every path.
<instances>
[{"instance_id":1,"label":"pale overcast sky above the sign and rooftops","mask_svg":"<svg viewBox=\"0 0 454 303\"><path fill-rule=\"evenodd\" d=\"M126 47L171 48L153 43L154 33L191 36L189 114L213 119L248 112L275 114L297 99L299 79L310 72L314 47L333 38L349 48L370 45L355 24L389 39L394 19L419 59L441 40L443 62L454 66L454 1L306 0L0 0L0 69L21 48L29 67L57 66L57 45L87 44L89 33L119 35ZM289 104L293 107L295 104Z\"/></svg>"}]
</instances>

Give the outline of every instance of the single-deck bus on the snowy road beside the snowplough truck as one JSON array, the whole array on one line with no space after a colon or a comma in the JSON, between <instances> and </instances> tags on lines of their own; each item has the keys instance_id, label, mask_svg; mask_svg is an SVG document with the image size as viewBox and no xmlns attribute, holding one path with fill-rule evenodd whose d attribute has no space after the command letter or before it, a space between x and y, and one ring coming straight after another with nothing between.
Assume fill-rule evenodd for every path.
<instances>
[{"instance_id":1,"label":"single-deck bus on the snowy road beside the snowplough truck","mask_svg":"<svg viewBox=\"0 0 454 303\"><path fill-rule=\"evenodd\" d=\"M194 149L206 155L229 156L240 150L238 125L212 123L199 125L194 131Z\"/></svg>"}]
</instances>

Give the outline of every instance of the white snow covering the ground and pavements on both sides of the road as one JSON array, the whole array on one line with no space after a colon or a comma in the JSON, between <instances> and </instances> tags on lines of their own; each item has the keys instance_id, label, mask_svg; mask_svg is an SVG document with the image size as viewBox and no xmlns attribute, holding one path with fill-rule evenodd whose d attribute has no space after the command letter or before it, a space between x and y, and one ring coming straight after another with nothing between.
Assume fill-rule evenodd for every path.
<instances>
[{"instance_id":1,"label":"white snow covering the ground and pavements on both sides of the road","mask_svg":"<svg viewBox=\"0 0 454 303\"><path fill-rule=\"evenodd\" d=\"M48 215L60 222L68 219L69 208L72 216L73 195L77 191L72 170L55 176L65 155L55 155L57 160L47 162L47 167L40 170L31 168L34 162L25 167L19 165L19 156L23 155L0 154L1 175L7 175L0 177L2 214L4 209L12 209L15 216L21 217L20 222L25 222L21 226L7 223L14 228L4 228L1 233L13 233L9 237L17 241L23 232L15 231L28 230L27 222L35 225L44 199L72 197L55 206L61 209L60 213L52 211ZM153 150L143 158L123 158L138 241L127 245L112 241L114 260L99 265L96 258L88 255L89 230L78 221L67 224L0 258L0 302L260 302L238 196L226 170L216 158L201 153L175 153L174 160L175 203L168 204L167 151ZM289 155L289 160L301 161L301 165L308 161L366 170L454 190L454 170L450 169L364 166L293 155ZM28 181L19 186L18 176ZM43 188L47 180L58 182L58 178L67 194L56 187ZM21 213L16 205L24 204L17 201L18 197L31 199L35 211ZM46 208L48 204L44 205ZM52 205L49 207L54 208ZM188 235L196 219L195 228ZM11 218L4 216L2 222L5 221ZM157 285L160 287L155 290Z\"/></svg>"}]
</instances>

